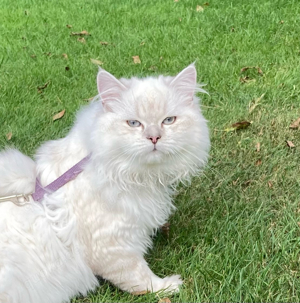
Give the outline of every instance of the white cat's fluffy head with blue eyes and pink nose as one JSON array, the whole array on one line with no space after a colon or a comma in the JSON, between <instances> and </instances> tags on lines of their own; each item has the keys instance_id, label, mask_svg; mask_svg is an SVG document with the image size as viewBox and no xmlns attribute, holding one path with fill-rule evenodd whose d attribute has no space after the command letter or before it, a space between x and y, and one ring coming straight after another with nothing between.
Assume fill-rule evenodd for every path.
<instances>
[{"instance_id":1,"label":"white cat's fluffy head with blue eyes and pink nose","mask_svg":"<svg viewBox=\"0 0 300 303\"><path fill-rule=\"evenodd\" d=\"M93 140L116 173L149 173L184 178L206 160L208 129L199 109L193 64L175 77L97 77L102 112Z\"/></svg>"}]
</instances>

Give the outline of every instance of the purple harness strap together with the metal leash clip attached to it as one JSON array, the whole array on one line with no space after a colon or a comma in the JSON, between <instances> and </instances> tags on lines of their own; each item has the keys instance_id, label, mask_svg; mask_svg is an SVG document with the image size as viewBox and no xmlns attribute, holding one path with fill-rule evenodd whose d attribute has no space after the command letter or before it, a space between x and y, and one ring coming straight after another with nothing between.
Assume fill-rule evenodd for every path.
<instances>
[{"instance_id":1,"label":"purple harness strap together with the metal leash clip attached to it","mask_svg":"<svg viewBox=\"0 0 300 303\"><path fill-rule=\"evenodd\" d=\"M60 189L68 182L74 180L83 171L85 164L90 160L90 158L91 158L91 154L89 154L81 161L76 163L74 166L72 166L64 174L62 174L60 177L58 177L56 180L51 182L46 187L43 187L40 181L36 179L34 193L28 195L21 194L21 195L0 197L0 203L10 201L18 206L23 206L30 201L30 196L33 198L34 201L39 202L44 198L45 194L51 194L57 191L58 189Z\"/></svg>"}]
</instances>

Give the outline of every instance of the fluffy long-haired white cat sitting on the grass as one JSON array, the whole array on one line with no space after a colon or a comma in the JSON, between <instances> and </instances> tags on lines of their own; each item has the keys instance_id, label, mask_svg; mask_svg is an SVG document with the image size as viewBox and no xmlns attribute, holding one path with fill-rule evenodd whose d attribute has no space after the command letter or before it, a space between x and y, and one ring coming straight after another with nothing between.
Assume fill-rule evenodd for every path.
<instances>
[{"instance_id":1,"label":"fluffy long-haired white cat sitting on the grass","mask_svg":"<svg viewBox=\"0 0 300 303\"><path fill-rule=\"evenodd\" d=\"M174 210L176 184L207 161L196 69L176 77L117 80L104 70L99 95L69 134L42 145L34 162L0 153L0 197L30 194L90 155L76 179L23 206L0 203L0 302L61 303L97 286L95 275L128 292L177 291L143 255ZM9 200L9 199L7 199Z\"/></svg>"}]
</instances>

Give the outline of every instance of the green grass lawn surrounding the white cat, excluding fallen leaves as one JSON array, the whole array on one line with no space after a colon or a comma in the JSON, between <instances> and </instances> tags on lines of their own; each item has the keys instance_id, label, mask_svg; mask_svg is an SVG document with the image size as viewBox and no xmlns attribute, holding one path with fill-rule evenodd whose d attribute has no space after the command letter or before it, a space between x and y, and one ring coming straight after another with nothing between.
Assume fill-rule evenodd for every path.
<instances>
[{"instance_id":1,"label":"green grass lawn surrounding the white cat, excluding fallen leaves","mask_svg":"<svg viewBox=\"0 0 300 303\"><path fill-rule=\"evenodd\" d=\"M196 61L210 93L202 97L210 161L201 178L179 188L169 238L158 234L146 258L159 276L182 275L172 302L300 302L300 130L289 129L300 116L299 1L203 3L2 0L0 147L32 155L43 141L66 135L80 105L97 93L90 58L117 77L176 74ZM91 33L85 44L70 36L82 30ZM263 75L241 73L247 66ZM242 83L245 76L250 81ZM62 109L65 116L53 122ZM253 123L224 131L241 120ZM159 300L101 283L73 302Z\"/></svg>"}]
</instances>

